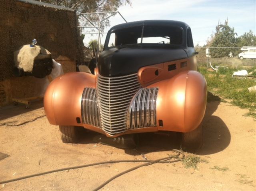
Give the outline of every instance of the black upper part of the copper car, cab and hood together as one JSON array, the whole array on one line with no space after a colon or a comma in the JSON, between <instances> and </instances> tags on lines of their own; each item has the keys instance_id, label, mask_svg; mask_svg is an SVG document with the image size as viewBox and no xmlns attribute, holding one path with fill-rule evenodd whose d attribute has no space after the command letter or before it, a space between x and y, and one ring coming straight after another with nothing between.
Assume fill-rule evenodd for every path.
<instances>
[{"instance_id":1,"label":"black upper part of the copper car, cab and hood together","mask_svg":"<svg viewBox=\"0 0 256 191\"><path fill-rule=\"evenodd\" d=\"M113 33L116 36L114 48L108 47ZM170 44L138 42L139 38L146 37L167 38ZM97 60L97 66L102 76L124 76L134 74L144 66L181 60L195 55L191 30L186 23L173 20L144 20L112 27L106 36L104 51ZM175 68L169 68L170 70Z\"/></svg>"}]
</instances>

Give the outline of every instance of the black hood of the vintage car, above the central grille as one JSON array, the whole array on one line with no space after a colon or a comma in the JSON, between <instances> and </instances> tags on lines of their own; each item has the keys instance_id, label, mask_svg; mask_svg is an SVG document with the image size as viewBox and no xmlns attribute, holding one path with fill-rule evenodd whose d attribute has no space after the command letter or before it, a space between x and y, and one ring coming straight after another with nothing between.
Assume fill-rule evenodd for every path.
<instances>
[{"instance_id":1,"label":"black hood of the vintage car, above the central grille","mask_svg":"<svg viewBox=\"0 0 256 191\"><path fill-rule=\"evenodd\" d=\"M98 59L101 76L124 76L138 72L141 67L188 58L184 49L170 48L111 48Z\"/></svg>"}]
</instances>

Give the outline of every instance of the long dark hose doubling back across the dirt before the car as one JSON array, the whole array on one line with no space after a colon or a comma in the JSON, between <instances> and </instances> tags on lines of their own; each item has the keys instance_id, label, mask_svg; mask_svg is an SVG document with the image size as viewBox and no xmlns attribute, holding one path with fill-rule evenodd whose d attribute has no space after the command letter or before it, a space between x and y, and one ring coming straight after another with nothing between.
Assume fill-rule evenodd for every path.
<instances>
[{"instance_id":1,"label":"long dark hose doubling back across the dirt before the car","mask_svg":"<svg viewBox=\"0 0 256 191\"><path fill-rule=\"evenodd\" d=\"M154 163L174 163L174 162L178 162L180 161L183 157L184 157L184 153L180 150L177 149L173 149L172 151L175 151L177 153L177 155L171 155L169 157L164 157L162 159L157 159L157 160L118 160L118 161L105 161L105 162L99 162L99 163L92 163L92 164L88 164L88 165L80 165L80 166L74 166L74 167L67 167L67 168L62 168L62 169L56 169L56 170L52 170L52 171L46 171L46 172L42 172L42 173L37 173L37 174L32 174L32 175L28 175L28 176L24 176L24 177L19 177L16 179L10 179L10 180L6 180L6 181L1 181L0 184L4 184L4 183L10 183L10 182L14 182L14 181L18 181L18 180L23 180L23 179L27 179L27 178L31 178L31 177L36 177L36 176L40 176L40 175L46 175L46 174L50 174L50 173L55 173L55 172L59 172L59 171L66 171L66 170L71 170L71 169L78 169L78 168L84 168L84 167L90 167L90 166L95 166L95 165L102 165L102 164L108 164L108 163L127 163L127 162L146 162L142 165L138 165L136 167L130 168L122 173L119 173L118 175L115 175L114 177L108 179L106 182L104 182L102 185L98 186L96 189L94 189L93 191L97 191L99 189L101 189L102 187L104 187L106 184L108 184L110 181L116 179L117 177L128 173L130 171L133 171L135 169L138 169L140 167L143 166L147 166L147 165L151 165ZM179 155L182 155L181 157L179 157L176 160L173 161L168 161L174 157L178 157Z\"/></svg>"}]
</instances>

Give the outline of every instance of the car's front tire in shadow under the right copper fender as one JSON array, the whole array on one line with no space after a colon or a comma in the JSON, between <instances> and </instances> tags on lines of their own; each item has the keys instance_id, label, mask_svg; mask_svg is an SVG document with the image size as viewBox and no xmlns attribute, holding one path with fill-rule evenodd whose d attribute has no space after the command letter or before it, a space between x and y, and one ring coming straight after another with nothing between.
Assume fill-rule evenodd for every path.
<instances>
[{"instance_id":1,"label":"car's front tire in shadow under the right copper fender","mask_svg":"<svg viewBox=\"0 0 256 191\"><path fill-rule=\"evenodd\" d=\"M193 131L182 133L181 149L183 151L194 152L203 145L203 127L200 124Z\"/></svg>"}]
</instances>

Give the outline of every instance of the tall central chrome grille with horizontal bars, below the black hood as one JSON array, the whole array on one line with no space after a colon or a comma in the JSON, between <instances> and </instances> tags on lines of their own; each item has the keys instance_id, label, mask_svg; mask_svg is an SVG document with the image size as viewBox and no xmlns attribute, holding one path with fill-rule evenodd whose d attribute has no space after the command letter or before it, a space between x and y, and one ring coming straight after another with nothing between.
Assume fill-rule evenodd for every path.
<instances>
[{"instance_id":1,"label":"tall central chrome grille with horizontal bars, below the black hood","mask_svg":"<svg viewBox=\"0 0 256 191\"><path fill-rule=\"evenodd\" d=\"M127 111L139 88L137 74L118 77L98 75L97 96L101 127L108 134L115 135L127 130Z\"/></svg>"}]
</instances>

